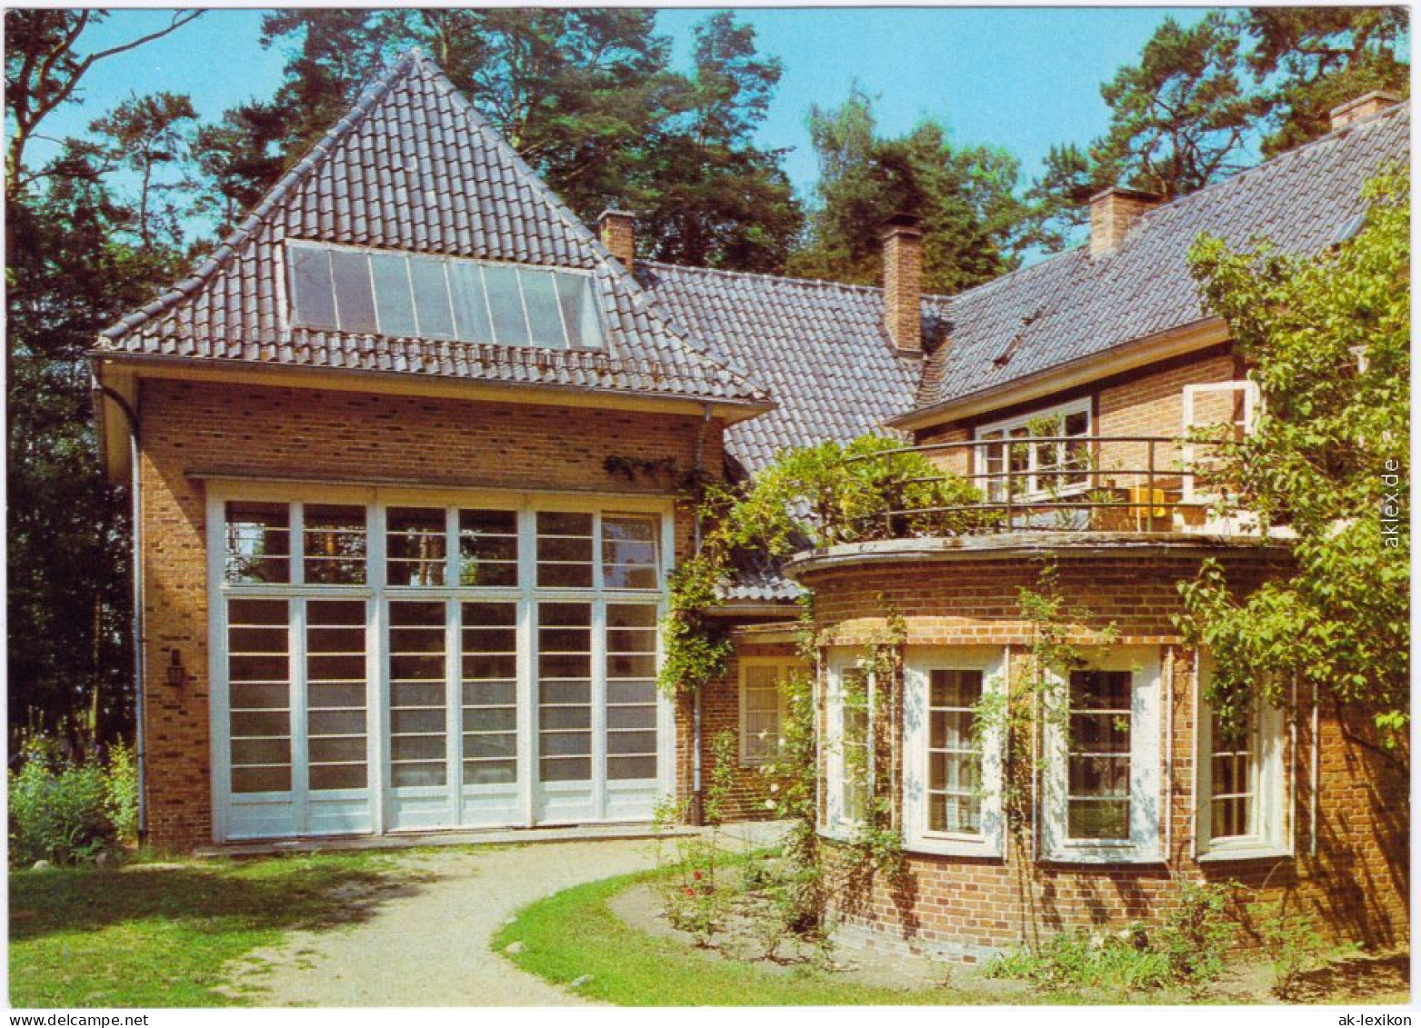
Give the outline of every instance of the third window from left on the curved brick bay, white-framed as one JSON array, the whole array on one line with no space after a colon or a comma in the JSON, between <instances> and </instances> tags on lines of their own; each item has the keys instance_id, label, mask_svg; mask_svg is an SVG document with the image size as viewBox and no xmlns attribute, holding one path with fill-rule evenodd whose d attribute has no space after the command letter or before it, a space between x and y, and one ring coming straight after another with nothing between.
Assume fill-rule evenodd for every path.
<instances>
[{"instance_id":1,"label":"third window from left on the curved brick bay, white-framed","mask_svg":"<svg viewBox=\"0 0 1421 1028\"><path fill-rule=\"evenodd\" d=\"M1121 646L1066 674L1046 714L1043 856L1160 859L1160 653Z\"/></svg>"}]
</instances>

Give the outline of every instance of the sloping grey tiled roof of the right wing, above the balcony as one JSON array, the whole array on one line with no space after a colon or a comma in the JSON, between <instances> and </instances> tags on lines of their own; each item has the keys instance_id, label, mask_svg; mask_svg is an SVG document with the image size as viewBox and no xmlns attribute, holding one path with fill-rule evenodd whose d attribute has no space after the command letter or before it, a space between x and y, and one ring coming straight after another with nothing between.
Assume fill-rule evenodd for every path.
<instances>
[{"instance_id":1,"label":"sloping grey tiled roof of the right wing, above the balcony","mask_svg":"<svg viewBox=\"0 0 1421 1028\"><path fill-rule=\"evenodd\" d=\"M958 294L946 304L951 345L926 361L915 406L1204 319L1187 261L1202 233L1233 247L1268 239L1293 254L1326 250L1354 230L1364 183L1407 163L1410 129L1398 105L1145 213L1113 253L1073 250Z\"/></svg>"}]
</instances>

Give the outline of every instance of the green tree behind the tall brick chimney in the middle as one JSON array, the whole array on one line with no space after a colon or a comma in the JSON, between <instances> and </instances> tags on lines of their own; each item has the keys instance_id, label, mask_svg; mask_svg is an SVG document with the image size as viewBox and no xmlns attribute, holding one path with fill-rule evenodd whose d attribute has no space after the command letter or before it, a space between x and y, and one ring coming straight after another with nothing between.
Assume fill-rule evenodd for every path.
<instances>
[{"instance_id":1,"label":"green tree behind the tall brick chimney in the middle","mask_svg":"<svg viewBox=\"0 0 1421 1028\"><path fill-rule=\"evenodd\" d=\"M915 214L924 230L924 288L952 294L1016 267L1022 216L1013 196L1019 163L989 146L953 146L924 121L897 139L878 133L872 101L854 87L834 109L810 111L818 156L818 203L796 274L877 284L880 233L894 214Z\"/></svg>"}]
</instances>

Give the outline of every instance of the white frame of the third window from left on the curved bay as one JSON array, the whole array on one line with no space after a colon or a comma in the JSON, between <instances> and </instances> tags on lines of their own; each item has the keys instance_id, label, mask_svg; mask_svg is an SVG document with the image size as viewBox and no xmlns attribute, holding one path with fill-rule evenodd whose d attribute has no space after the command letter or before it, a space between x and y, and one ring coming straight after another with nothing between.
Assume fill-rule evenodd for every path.
<instances>
[{"instance_id":1,"label":"white frame of the third window from left on the curved bay","mask_svg":"<svg viewBox=\"0 0 1421 1028\"><path fill-rule=\"evenodd\" d=\"M1113 646L1090 670L1130 672L1130 838L1071 839L1066 824L1067 745L1063 709L1047 710L1043 728L1046 771L1042 781L1042 856L1067 863L1157 863L1160 849L1162 666L1157 646ZM1052 704L1069 704L1069 679L1052 676Z\"/></svg>"}]
</instances>

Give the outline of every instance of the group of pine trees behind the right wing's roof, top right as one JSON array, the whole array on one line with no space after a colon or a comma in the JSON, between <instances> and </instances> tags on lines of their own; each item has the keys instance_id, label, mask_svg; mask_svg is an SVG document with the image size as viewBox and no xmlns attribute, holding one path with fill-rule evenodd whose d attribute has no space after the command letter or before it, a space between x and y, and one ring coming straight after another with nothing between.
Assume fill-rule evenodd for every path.
<instances>
[{"instance_id":1,"label":"group of pine trees behind the right wing's roof, top right","mask_svg":"<svg viewBox=\"0 0 1421 1028\"><path fill-rule=\"evenodd\" d=\"M1330 131L1370 89L1410 92L1401 7L1253 7L1155 30L1140 64L1101 87L1110 129L1088 152L1053 146L1026 192L1022 243L1079 244L1090 196L1133 186L1184 196Z\"/></svg>"}]
</instances>

